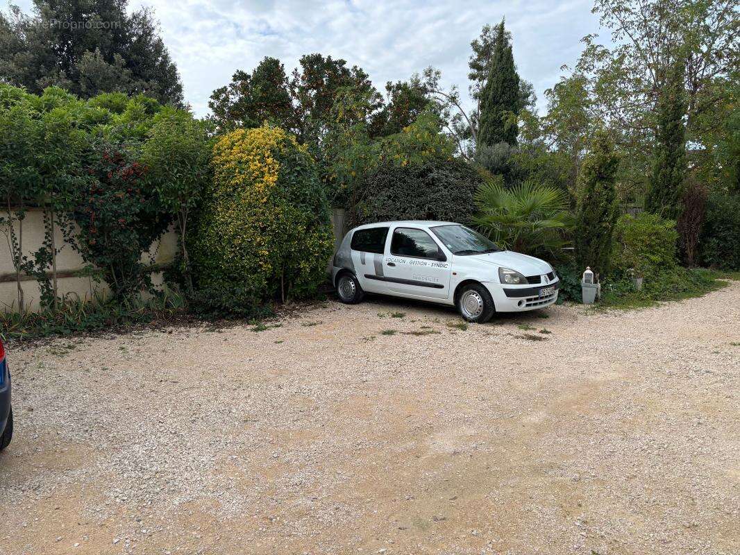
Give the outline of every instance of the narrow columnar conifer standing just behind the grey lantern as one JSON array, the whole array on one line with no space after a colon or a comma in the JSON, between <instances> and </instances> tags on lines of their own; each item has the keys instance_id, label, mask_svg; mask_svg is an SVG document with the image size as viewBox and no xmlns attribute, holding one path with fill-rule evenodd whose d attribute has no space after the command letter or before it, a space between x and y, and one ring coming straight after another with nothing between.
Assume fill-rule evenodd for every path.
<instances>
[{"instance_id":1,"label":"narrow columnar conifer standing just behind the grey lantern","mask_svg":"<svg viewBox=\"0 0 740 555\"><path fill-rule=\"evenodd\" d=\"M576 257L579 266L591 266L594 274L609 271L616 210L614 181L619 156L605 131L596 132L591 152L580 173L580 191L576 214Z\"/></svg>"}]
</instances>

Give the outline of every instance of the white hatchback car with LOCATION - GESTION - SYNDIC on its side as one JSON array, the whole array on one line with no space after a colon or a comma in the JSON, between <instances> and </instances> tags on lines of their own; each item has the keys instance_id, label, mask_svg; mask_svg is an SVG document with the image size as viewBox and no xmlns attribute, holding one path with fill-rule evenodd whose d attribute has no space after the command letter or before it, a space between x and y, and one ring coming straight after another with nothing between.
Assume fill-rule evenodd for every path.
<instances>
[{"instance_id":1,"label":"white hatchback car with LOCATION - GESTION - SYNDIC on its side","mask_svg":"<svg viewBox=\"0 0 740 555\"><path fill-rule=\"evenodd\" d=\"M443 221L351 229L334 255L332 280L344 303L381 293L454 305L479 323L494 312L550 306L560 286L544 260L502 251L480 233Z\"/></svg>"}]
</instances>

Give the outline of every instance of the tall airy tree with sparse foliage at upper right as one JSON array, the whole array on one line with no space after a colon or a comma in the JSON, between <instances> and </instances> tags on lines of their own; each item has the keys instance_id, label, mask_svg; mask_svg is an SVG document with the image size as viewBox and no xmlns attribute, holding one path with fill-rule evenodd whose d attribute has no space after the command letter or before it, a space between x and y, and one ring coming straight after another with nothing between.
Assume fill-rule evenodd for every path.
<instances>
[{"instance_id":1,"label":"tall airy tree with sparse foliage at upper right","mask_svg":"<svg viewBox=\"0 0 740 555\"><path fill-rule=\"evenodd\" d=\"M721 126L720 85L740 67L735 1L596 0L593 12L610 30L610 45L586 36L576 72L588 76L596 115L624 129L625 144L650 152L655 107L676 59L685 61L687 140Z\"/></svg>"}]
</instances>

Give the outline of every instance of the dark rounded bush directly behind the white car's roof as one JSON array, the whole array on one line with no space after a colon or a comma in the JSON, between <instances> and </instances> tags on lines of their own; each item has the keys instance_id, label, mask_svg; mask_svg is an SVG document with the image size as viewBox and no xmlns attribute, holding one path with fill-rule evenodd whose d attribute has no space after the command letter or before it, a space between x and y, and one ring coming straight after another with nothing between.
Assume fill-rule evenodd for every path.
<instances>
[{"instance_id":1,"label":"dark rounded bush directly behind the white car's roof","mask_svg":"<svg viewBox=\"0 0 740 555\"><path fill-rule=\"evenodd\" d=\"M393 220L470 223L475 193L483 183L473 166L434 158L423 164L383 164L360 184L350 215L353 225Z\"/></svg>"}]
</instances>

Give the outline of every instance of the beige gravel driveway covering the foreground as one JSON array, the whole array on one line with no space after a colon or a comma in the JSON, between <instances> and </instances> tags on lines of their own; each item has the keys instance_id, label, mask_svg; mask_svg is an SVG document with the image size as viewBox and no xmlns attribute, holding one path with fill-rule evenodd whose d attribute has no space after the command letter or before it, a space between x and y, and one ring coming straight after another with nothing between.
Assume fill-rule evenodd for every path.
<instances>
[{"instance_id":1,"label":"beige gravel driveway covering the foreground","mask_svg":"<svg viewBox=\"0 0 740 555\"><path fill-rule=\"evenodd\" d=\"M461 323L10 346L0 553L740 553L740 283Z\"/></svg>"}]
</instances>

